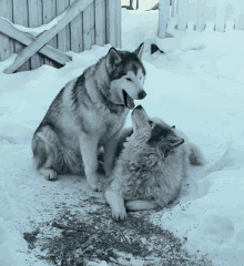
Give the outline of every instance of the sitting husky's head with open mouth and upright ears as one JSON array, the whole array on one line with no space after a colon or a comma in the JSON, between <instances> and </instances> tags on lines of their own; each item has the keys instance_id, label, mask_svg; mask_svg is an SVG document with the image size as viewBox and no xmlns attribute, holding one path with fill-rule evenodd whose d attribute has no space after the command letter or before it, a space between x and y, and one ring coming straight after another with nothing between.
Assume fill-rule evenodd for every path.
<instances>
[{"instance_id":1,"label":"sitting husky's head with open mouth and upright ears","mask_svg":"<svg viewBox=\"0 0 244 266\"><path fill-rule=\"evenodd\" d=\"M111 80L110 100L128 109L134 108L133 100L146 96L144 91L145 69L141 62L144 43L134 51L118 51L111 48L106 54L106 70Z\"/></svg>"}]
</instances>

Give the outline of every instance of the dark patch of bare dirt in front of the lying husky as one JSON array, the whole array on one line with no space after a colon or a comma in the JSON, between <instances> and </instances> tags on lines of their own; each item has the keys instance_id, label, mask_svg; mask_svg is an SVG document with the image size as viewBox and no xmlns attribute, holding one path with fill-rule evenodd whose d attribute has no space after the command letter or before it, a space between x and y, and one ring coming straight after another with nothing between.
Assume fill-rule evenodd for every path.
<instances>
[{"instance_id":1,"label":"dark patch of bare dirt in front of the lying husky","mask_svg":"<svg viewBox=\"0 0 244 266\"><path fill-rule=\"evenodd\" d=\"M126 221L115 222L110 207L96 196L72 206L62 203L58 208L52 221L23 233L35 256L51 265L83 266L101 260L112 266L212 265L204 257L190 256L182 249L183 242L151 224L152 212L130 213Z\"/></svg>"}]
</instances>

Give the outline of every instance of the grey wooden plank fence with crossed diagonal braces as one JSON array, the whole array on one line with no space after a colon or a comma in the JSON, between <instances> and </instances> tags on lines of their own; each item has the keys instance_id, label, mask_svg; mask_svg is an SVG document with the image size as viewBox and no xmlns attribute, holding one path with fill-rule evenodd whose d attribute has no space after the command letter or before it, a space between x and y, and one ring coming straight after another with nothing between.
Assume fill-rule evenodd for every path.
<instances>
[{"instance_id":1,"label":"grey wooden plank fence with crossed diagonal braces","mask_svg":"<svg viewBox=\"0 0 244 266\"><path fill-rule=\"evenodd\" d=\"M81 8L81 12L71 21L69 21L69 18L64 18L63 27L57 27L61 30L59 29L58 33L48 42L43 42L44 47L40 47L41 44L33 45L37 50L30 49L31 53L34 51L34 54L30 58L28 58L30 50L27 49L27 45L31 45L31 42L37 43L37 39L41 39L47 32L33 38L1 19L6 18L14 24L27 28L38 28L49 23L71 7L82 6L85 2L90 4ZM75 7L70 14L74 12ZM18 53L19 55L23 53L24 57L22 58L28 58L17 71L33 70L43 63L60 66L70 60L63 52L79 53L91 49L93 44L111 43L121 48L121 0L0 0L0 61L9 58L11 53ZM55 27L48 31L52 31L53 28ZM47 33L45 35L50 34ZM23 51L24 48L28 53ZM55 60L57 58L60 60ZM21 62L20 60L17 65Z\"/></svg>"}]
</instances>

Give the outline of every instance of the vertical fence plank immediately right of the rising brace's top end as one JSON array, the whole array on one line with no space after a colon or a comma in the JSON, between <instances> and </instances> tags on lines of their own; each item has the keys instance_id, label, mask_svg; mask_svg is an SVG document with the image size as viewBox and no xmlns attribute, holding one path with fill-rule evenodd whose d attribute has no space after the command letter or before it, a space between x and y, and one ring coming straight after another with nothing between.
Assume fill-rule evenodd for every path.
<instances>
[{"instance_id":1,"label":"vertical fence plank immediately right of the rising brace's top end","mask_svg":"<svg viewBox=\"0 0 244 266\"><path fill-rule=\"evenodd\" d=\"M95 44L105 44L105 0L95 0Z\"/></svg>"}]
</instances>

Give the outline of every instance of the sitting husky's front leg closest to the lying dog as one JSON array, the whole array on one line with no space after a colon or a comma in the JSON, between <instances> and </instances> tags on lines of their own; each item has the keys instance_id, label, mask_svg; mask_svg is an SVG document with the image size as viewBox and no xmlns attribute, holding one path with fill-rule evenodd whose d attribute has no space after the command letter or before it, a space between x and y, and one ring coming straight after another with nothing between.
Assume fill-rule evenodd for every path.
<instances>
[{"instance_id":1,"label":"sitting husky's front leg closest to the lying dog","mask_svg":"<svg viewBox=\"0 0 244 266\"><path fill-rule=\"evenodd\" d=\"M112 174L115 161L115 151L118 145L118 140L120 136L120 131L116 132L104 145L104 170L106 176Z\"/></svg>"}]
</instances>

